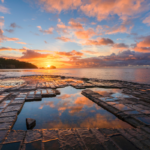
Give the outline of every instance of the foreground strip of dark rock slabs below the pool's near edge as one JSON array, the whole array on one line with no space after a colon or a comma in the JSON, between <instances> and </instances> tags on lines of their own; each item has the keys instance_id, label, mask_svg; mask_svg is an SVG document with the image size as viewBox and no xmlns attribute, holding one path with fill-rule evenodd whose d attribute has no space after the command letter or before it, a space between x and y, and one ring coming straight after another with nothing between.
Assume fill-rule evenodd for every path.
<instances>
[{"instance_id":1,"label":"foreground strip of dark rock slabs below the pool's near edge","mask_svg":"<svg viewBox=\"0 0 150 150\"><path fill-rule=\"evenodd\" d=\"M0 131L0 150L149 150L141 129L40 129Z\"/></svg>"}]
</instances>

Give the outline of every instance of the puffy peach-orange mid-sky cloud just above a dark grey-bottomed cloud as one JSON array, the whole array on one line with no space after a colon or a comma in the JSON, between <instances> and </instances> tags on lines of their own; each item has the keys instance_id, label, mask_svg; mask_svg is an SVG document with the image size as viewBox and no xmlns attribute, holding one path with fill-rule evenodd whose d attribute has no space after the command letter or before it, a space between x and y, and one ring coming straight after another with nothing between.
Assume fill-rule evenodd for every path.
<instances>
[{"instance_id":1,"label":"puffy peach-orange mid-sky cloud just above a dark grey-bottomed cloud","mask_svg":"<svg viewBox=\"0 0 150 150\"><path fill-rule=\"evenodd\" d=\"M97 33L92 29L92 28L89 28L87 30L80 30L80 31L76 31L75 32L75 36L78 38L78 39L89 39L93 36L97 35Z\"/></svg>"}]
</instances>

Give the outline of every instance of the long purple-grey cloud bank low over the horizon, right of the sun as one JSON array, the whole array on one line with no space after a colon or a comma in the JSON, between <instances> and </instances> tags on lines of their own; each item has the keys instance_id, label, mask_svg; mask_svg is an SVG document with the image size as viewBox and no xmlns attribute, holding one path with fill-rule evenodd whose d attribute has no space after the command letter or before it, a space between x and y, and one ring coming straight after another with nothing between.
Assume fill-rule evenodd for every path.
<instances>
[{"instance_id":1,"label":"long purple-grey cloud bank low over the horizon, right of the sun","mask_svg":"<svg viewBox=\"0 0 150 150\"><path fill-rule=\"evenodd\" d=\"M107 56L82 58L64 63L70 63L73 67L150 65L150 53L126 50L118 54L112 53Z\"/></svg>"}]
</instances>

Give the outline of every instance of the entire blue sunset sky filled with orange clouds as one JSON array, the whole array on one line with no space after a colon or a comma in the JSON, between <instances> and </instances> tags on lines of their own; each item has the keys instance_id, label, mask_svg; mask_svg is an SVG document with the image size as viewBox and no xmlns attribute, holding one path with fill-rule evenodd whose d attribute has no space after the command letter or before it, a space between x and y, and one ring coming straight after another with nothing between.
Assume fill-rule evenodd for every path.
<instances>
[{"instance_id":1,"label":"entire blue sunset sky filled with orange clouds","mask_svg":"<svg viewBox=\"0 0 150 150\"><path fill-rule=\"evenodd\" d=\"M150 1L0 0L0 57L38 67L150 65Z\"/></svg>"}]
</instances>

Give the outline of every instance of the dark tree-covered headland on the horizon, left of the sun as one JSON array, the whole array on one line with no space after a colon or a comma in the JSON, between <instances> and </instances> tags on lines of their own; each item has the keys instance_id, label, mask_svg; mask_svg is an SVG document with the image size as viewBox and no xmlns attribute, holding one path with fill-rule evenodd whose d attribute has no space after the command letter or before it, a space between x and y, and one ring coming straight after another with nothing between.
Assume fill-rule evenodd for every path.
<instances>
[{"instance_id":1,"label":"dark tree-covered headland on the horizon, left of the sun","mask_svg":"<svg viewBox=\"0 0 150 150\"><path fill-rule=\"evenodd\" d=\"M36 65L16 59L0 58L0 69L37 69Z\"/></svg>"}]
</instances>

